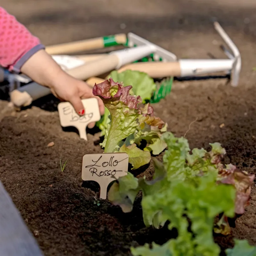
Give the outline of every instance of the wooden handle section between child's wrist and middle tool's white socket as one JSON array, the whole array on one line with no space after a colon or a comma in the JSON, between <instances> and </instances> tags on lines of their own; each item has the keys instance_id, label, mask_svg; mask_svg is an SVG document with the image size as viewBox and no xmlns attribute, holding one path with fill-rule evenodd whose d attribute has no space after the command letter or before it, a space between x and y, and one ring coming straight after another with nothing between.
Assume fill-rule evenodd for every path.
<instances>
[{"instance_id":1,"label":"wooden handle section between child's wrist and middle tool's white socket","mask_svg":"<svg viewBox=\"0 0 256 256\"><path fill-rule=\"evenodd\" d=\"M117 55L109 54L107 57L86 62L83 66L67 70L67 73L77 79L86 80L115 69L118 63Z\"/></svg>"}]
</instances>

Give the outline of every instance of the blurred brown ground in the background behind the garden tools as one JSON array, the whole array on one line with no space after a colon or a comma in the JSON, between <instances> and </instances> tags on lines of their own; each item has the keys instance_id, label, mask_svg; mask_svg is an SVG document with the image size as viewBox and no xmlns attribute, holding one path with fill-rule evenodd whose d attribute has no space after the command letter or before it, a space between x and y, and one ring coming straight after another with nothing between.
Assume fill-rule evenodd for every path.
<instances>
[{"instance_id":1,"label":"blurred brown ground in the background behind the garden tools","mask_svg":"<svg viewBox=\"0 0 256 256\"><path fill-rule=\"evenodd\" d=\"M2 0L1 6L45 45L133 32L178 58L225 57L215 18L242 58L256 53L255 0Z\"/></svg>"}]
</instances>

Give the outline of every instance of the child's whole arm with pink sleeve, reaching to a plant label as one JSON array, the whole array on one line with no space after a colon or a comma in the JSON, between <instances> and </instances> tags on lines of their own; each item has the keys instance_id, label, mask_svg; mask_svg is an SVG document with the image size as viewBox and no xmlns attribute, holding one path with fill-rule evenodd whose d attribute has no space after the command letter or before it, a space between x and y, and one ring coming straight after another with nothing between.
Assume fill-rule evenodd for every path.
<instances>
[{"instance_id":1,"label":"child's whole arm with pink sleeve, reaching to a plant label","mask_svg":"<svg viewBox=\"0 0 256 256\"><path fill-rule=\"evenodd\" d=\"M20 71L38 84L50 87L55 97L69 101L78 114L85 110L81 99L94 97L91 88L69 76L47 54L39 39L29 33L12 15L0 7L0 66ZM99 100L101 114L104 105ZM92 126L92 125L90 125Z\"/></svg>"}]
</instances>

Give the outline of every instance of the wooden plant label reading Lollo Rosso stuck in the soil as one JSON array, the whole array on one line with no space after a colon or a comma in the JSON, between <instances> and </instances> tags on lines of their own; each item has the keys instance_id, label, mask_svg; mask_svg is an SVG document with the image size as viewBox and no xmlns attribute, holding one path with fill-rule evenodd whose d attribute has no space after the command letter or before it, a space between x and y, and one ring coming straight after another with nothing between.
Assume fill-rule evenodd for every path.
<instances>
[{"instance_id":1,"label":"wooden plant label reading Lollo Rosso stuck in the soil","mask_svg":"<svg viewBox=\"0 0 256 256\"><path fill-rule=\"evenodd\" d=\"M111 181L127 175L129 156L126 153L88 154L83 156L82 180L100 185L100 198L107 198Z\"/></svg>"}]
</instances>

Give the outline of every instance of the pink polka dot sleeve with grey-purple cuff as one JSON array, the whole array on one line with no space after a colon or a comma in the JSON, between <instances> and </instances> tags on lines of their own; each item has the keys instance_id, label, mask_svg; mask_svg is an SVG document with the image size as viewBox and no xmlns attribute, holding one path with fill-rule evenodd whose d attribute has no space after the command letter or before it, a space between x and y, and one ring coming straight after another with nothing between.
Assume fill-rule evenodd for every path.
<instances>
[{"instance_id":1,"label":"pink polka dot sleeve with grey-purple cuff","mask_svg":"<svg viewBox=\"0 0 256 256\"><path fill-rule=\"evenodd\" d=\"M19 73L22 65L42 49L39 39L0 7L0 66Z\"/></svg>"}]
</instances>

